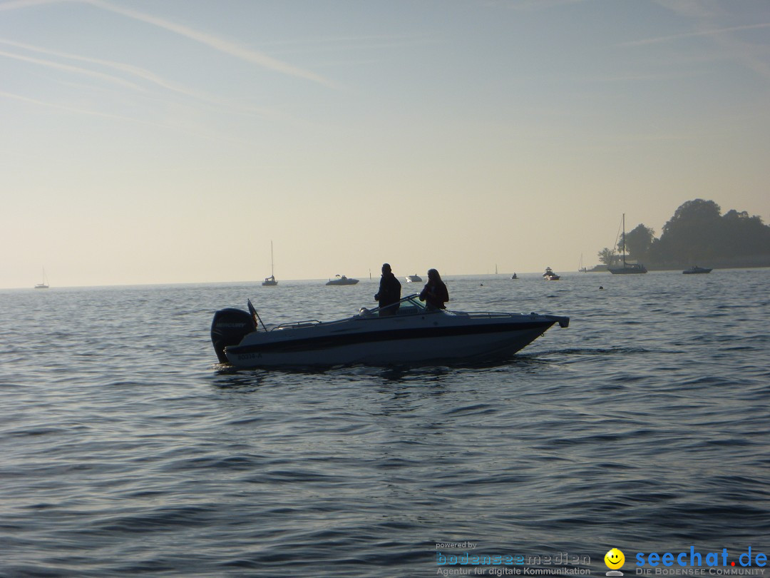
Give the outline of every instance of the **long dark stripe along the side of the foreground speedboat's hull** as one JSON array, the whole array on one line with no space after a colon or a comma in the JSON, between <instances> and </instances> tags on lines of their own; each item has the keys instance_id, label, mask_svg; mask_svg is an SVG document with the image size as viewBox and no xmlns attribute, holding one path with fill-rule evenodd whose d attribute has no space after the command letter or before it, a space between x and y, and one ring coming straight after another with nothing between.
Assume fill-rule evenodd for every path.
<instances>
[{"instance_id":1,"label":"long dark stripe along the side of the foreground speedboat's hull","mask_svg":"<svg viewBox=\"0 0 770 578\"><path fill-rule=\"evenodd\" d=\"M430 339L490 333L507 333L511 331L521 331L522 333L526 333L533 330L539 330L542 333L546 331L547 328L550 328L555 322L556 320L548 320L531 323L458 325L454 327L390 329L387 331L367 331L366 333L321 335L305 339L289 339L286 341L273 341L271 343L263 344L229 346L226 348L226 351L233 355L242 355L246 353L288 353L294 351L312 351L343 347L350 344L400 341L402 339Z\"/></svg>"}]
</instances>

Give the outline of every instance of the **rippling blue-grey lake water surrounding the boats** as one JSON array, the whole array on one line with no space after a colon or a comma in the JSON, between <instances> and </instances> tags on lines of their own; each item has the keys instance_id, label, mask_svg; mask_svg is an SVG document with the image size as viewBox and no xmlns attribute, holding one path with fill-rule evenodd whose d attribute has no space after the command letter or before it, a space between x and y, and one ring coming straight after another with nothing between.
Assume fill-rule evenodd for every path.
<instances>
[{"instance_id":1,"label":"rippling blue-grey lake water surrounding the boats","mask_svg":"<svg viewBox=\"0 0 770 578\"><path fill-rule=\"evenodd\" d=\"M770 554L770 270L447 279L450 308L571 325L484 367L228 371L216 309L330 320L377 280L0 291L0 576Z\"/></svg>"}]
</instances>

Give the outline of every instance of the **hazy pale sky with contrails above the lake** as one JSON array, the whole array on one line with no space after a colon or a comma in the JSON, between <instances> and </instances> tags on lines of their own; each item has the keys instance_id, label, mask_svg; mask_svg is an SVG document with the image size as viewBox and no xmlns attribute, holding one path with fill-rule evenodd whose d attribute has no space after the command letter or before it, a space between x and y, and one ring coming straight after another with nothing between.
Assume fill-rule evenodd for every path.
<instances>
[{"instance_id":1,"label":"hazy pale sky with contrails above the lake","mask_svg":"<svg viewBox=\"0 0 770 578\"><path fill-rule=\"evenodd\" d=\"M0 287L577 269L770 221L768 0L3 0Z\"/></svg>"}]
</instances>

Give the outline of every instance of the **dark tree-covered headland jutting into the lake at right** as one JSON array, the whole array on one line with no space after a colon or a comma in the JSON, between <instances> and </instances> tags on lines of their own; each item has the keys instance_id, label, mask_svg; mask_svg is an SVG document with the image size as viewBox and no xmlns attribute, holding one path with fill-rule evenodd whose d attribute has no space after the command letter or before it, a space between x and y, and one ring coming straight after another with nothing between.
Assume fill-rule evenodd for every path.
<instances>
[{"instance_id":1,"label":"dark tree-covered headland jutting into the lake at right","mask_svg":"<svg viewBox=\"0 0 770 578\"><path fill-rule=\"evenodd\" d=\"M621 234L618 247L604 247L599 260L614 264L621 258L648 269L701 267L770 267L770 226L746 211L728 210L712 200L688 200L663 226L661 236L644 224Z\"/></svg>"}]
</instances>

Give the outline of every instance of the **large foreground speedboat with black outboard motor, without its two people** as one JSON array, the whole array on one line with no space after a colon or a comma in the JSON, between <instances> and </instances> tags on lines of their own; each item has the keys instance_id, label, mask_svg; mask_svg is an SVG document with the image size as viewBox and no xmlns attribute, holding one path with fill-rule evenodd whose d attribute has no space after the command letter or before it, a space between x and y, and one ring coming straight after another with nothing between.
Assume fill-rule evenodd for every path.
<instances>
[{"instance_id":1,"label":"large foreground speedboat with black outboard motor, without its two people","mask_svg":"<svg viewBox=\"0 0 770 578\"><path fill-rule=\"evenodd\" d=\"M390 314L389 314L390 313ZM222 363L243 368L430 365L508 358L569 318L427 309L416 294L337 321L265 325L249 311L214 314L211 341Z\"/></svg>"}]
</instances>

